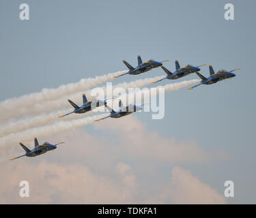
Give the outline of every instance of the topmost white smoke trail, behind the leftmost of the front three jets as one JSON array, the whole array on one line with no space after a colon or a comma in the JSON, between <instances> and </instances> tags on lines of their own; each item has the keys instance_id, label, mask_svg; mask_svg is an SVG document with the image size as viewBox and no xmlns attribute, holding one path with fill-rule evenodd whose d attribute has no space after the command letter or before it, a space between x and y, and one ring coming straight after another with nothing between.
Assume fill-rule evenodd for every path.
<instances>
[{"instance_id":1,"label":"topmost white smoke trail, behind the leftmost of the front three jets","mask_svg":"<svg viewBox=\"0 0 256 218\"><path fill-rule=\"evenodd\" d=\"M23 116L30 111L33 111L34 106L40 104L45 107L46 102L59 99L65 95L72 95L79 91L85 91L96 87L102 82L113 80L113 76L124 74L127 71L104 74L95 78L81 79L79 82L61 85L56 89L42 89L39 93L31 93L21 97L6 99L0 103L0 120L6 121L17 116Z\"/></svg>"}]
</instances>

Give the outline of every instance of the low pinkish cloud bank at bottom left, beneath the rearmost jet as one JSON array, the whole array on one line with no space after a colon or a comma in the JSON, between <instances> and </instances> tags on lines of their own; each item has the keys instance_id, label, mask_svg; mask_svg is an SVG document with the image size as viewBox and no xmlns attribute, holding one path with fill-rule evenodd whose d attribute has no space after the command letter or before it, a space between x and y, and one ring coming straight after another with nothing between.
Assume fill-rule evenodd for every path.
<instances>
[{"instance_id":1,"label":"low pinkish cloud bank at bottom left, beneath the rearmost jet","mask_svg":"<svg viewBox=\"0 0 256 218\"><path fill-rule=\"evenodd\" d=\"M18 165L1 168L1 173L5 175L0 181L1 204L126 203L133 200L137 186L132 174L120 172L117 178L111 178L96 174L81 164L61 165L42 161L31 165L23 161ZM18 184L22 180L30 184L29 198L18 196Z\"/></svg>"}]
</instances>

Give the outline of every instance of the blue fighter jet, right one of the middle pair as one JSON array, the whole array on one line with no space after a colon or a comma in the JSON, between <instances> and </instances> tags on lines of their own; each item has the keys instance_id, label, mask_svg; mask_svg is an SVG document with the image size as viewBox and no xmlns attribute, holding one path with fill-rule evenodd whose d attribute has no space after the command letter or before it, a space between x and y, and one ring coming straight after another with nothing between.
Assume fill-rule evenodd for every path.
<instances>
[{"instance_id":1,"label":"blue fighter jet, right one of the middle pair","mask_svg":"<svg viewBox=\"0 0 256 218\"><path fill-rule=\"evenodd\" d=\"M128 114L131 114L132 112L142 110L142 106L144 106L144 105L145 104L142 104L141 106L136 106L134 104L130 104L130 105L124 107L122 101L119 100L119 110L118 111L115 111L115 110L111 109L109 106L105 105L105 107L109 110L109 112L111 112L111 114L109 116L106 116L102 119L98 119L96 121L101 121L101 120L106 119L108 117L120 118L122 116L126 116Z\"/></svg>"}]
</instances>

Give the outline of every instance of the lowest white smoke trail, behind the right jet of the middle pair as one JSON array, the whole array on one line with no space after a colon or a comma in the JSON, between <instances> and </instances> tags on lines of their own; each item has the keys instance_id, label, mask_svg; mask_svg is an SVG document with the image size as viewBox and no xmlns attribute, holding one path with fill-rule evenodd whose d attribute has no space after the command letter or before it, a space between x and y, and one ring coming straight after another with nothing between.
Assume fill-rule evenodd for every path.
<instances>
[{"instance_id":1,"label":"lowest white smoke trail, behind the right jet of the middle pair","mask_svg":"<svg viewBox=\"0 0 256 218\"><path fill-rule=\"evenodd\" d=\"M26 131L20 131L17 134L9 134L8 136L0 138L0 148L15 145L17 142L27 142L34 137L44 138L46 136L59 134L62 131L66 131L68 129L88 125L89 123L93 123L94 120L100 119L107 115L108 114L99 114L95 116L87 116L82 119L73 119L71 121L59 121L53 123L52 125L27 129Z\"/></svg>"}]
</instances>

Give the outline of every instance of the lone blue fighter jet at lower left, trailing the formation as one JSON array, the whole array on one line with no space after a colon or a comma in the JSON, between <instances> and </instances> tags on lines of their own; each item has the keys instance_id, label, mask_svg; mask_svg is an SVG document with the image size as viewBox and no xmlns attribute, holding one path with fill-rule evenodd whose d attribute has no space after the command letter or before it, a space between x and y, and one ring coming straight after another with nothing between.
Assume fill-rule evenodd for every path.
<instances>
[{"instance_id":1,"label":"lone blue fighter jet at lower left, trailing the formation","mask_svg":"<svg viewBox=\"0 0 256 218\"><path fill-rule=\"evenodd\" d=\"M63 144L65 142L59 142L58 144ZM51 151L57 148L58 144L50 144L49 142L44 142L44 144L38 144L38 139L35 138L35 148L32 149L31 151L23 144L20 142L20 145L23 147L23 149L26 151L25 155L21 155L18 157L15 157L13 159L10 160L14 160L23 156L27 156L27 157L35 157L38 155L42 155L43 153L46 153L47 151Z\"/></svg>"}]
</instances>

